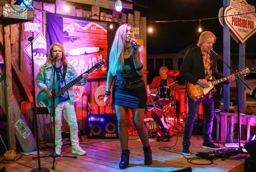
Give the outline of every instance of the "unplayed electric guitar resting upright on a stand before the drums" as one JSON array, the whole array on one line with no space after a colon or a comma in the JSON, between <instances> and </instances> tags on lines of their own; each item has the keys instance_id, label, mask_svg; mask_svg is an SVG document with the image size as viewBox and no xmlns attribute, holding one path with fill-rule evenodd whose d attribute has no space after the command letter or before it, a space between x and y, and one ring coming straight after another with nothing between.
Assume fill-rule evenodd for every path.
<instances>
[{"instance_id":1,"label":"unplayed electric guitar resting upright on a stand before the drums","mask_svg":"<svg viewBox=\"0 0 256 172\"><path fill-rule=\"evenodd\" d=\"M150 100L151 100L151 103L153 104L154 110L156 111L156 113L152 113L151 116L154 119L154 121L156 121L157 123L157 134L159 138L160 137L163 137L163 139L167 138L165 142L170 141L169 127L166 125L164 115L160 115L158 113L156 104L154 103L154 100L151 94L150 94ZM160 141L160 140L163 141L163 139L159 139L159 138L157 139L157 141Z\"/></svg>"}]
</instances>

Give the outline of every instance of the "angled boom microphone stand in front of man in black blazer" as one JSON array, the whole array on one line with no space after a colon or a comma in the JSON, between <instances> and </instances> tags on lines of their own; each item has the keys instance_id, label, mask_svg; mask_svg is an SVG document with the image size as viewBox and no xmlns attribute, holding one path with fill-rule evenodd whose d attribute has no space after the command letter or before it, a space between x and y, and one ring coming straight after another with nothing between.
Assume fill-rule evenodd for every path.
<instances>
[{"instance_id":1,"label":"angled boom microphone stand in front of man in black blazer","mask_svg":"<svg viewBox=\"0 0 256 172\"><path fill-rule=\"evenodd\" d=\"M244 81L243 79L241 79L237 74L236 72L231 68L230 65L228 65L224 60L223 58L221 58L218 53L216 53L212 48L209 49L210 51L212 51L213 53L215 53L215 55L218 56L218 58L221 59L221 61L223 61L223 63L228 67L228 69L230 69L230 71L236 76L236 89L237 89L237 97L236 97L236 101L237 101L237 124L238 124L238 142L239 142L239 147L237 149L237 153L244 153L243 152L243 149L242 149L242 146L241 146L241 140L240 140L240 113L239 113L239 100L238 100L238 82L237 80L240 79L240 81L242 81L244 83L244 85L246 85L247 88L249 88L249 90L252 90ZM231 136L232 137L232 136ZM236 154L232 154L232 155L236 155ZM231 156L232 156L231 155ZM226 157L228 158L228 157Z\"/></svg>"}]
</instances>

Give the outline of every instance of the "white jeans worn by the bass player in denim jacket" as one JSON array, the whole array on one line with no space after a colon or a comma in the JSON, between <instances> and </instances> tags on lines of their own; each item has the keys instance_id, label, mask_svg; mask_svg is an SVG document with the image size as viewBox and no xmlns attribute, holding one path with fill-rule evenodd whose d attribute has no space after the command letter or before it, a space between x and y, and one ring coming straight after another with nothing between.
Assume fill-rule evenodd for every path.
<instances>
[{"instance_id":1,"label":"white jeans worn by the bass player in denim jacket","mask_svg":"<svg viewBox=\"0 0 256 172\"><path fill-rule=\"evenodd\" d=\"M70 140L72 146L78 146L78 125L76 119L76 111L74 104L71 104L69 101L64 101L59 103L55 108L55 145L62 146L62 137L61 137L61 114L63 112L64 119L67 121L68 126L70 127ZM53 118L52 118L53 121Z\"/></svg>"}]
</instances>

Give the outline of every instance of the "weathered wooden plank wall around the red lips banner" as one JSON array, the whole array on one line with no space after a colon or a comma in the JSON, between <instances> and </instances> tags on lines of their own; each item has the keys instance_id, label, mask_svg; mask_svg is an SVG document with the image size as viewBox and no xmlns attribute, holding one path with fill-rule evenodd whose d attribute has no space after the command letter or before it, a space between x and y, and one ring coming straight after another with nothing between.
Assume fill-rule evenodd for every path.
<instances>
[{"instance_id":1,"label":"weathered wooden plank wall around the red lips banner","mask_svg":"<svg viewBox=\"0 0 256 172\"><path fill-rule=\"evenodd\" d=\"M12 46L10 47L10 52L13 56L13 62L16 65L16 68L20 70L19 75L24 83L24 85L20 86L19 84L14 84L13 87L15 97L17 99L18 104L21 105L21 110L25 115L26 121L28 121L28 126L32 129L32 110L31 110L31 94L27 96L27 98L23 98L23 90L20 87L26 87L26 91L32 93L33 92L33 81L32 81L32 62L31 58L25 53L24 48L30 43L28 38L33 36L34 38L41 33L46 38L47 34L47 20L46 20L46 13L55 13L55 14L62 14L67 16L76 16L81 18L88 18L95 19L95 20L104 20L104 21L112 21L112 22L119 22L119 24L123 23L130 23L134 27L140 27L140 35L135 35L136 39L142 39L144 46L146 45L146 18L140 16L140 12L135 11L134 14L121 14L112 10L112 14L107 14L106 12L101 12L99 6L91 6L91 10L83 10L78 9L75 6L70 6L70 10L68 12L64 11L66 0L56 0L55 4L52 3L45 3L45 2L38 2L34 1L33 6L35 7L35 19L33 20L34 23L39 23L39 31L40 32L25 32L25 25L24 23L15 24L8 26L10 27L10 41ZM113 2L114 3L114 2ZM141 21L140 21L141 20ZM1 31L1 30L0 30ZM0 41L2 42L2 38L0 37ZM110 46L110 45L109 45ZM39 68L35 66L35 77L38 74ZM106 81L92 81L88 82L86 87L83 90L82 97L75 102L76 108L76 115L77 121L80 123L79 129L86 129L86 117L87 117L87 106L93 108L91 113L110 113L111 109L97 106L94 98L95 91L99 85L106 85ZM39 89L35 85L35 94L39 93ZM29 90L29 91L28 91ZM28 95L26 93L25 95ZM29 97L29 98L28 98ZM43 118L44 117L44 118ZM49 115L46 116L38 114L38 125L39 127L39 140L48 140L52 137L51 131L51 119ZM41 126L41 129L40 129ZM42 133L41 133L42 131ZM63 118L63 127L62 132L69 131L69 127L67 123L64 121Z\"/></svg>"}]
</instances>

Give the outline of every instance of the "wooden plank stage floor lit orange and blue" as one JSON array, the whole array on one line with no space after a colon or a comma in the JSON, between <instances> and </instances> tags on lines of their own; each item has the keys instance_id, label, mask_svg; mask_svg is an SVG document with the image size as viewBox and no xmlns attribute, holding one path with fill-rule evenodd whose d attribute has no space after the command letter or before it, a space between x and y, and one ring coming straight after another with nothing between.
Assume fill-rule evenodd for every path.
<instances>
[{"instance_id":1,"label":"wooden plank stage floor lit orange and blue","mask_svg":"<svg viewBox=\"0 0 256 172\"><path fill-rule=\"evenodd\" d=\"M176 146L170 150L173 152L160 150L159 147L175 145L176 136L173 136L170 142L157 142L156 137L151 139L153 164L145 166L142 144L137 140L138 136L129 136L130 164L127 169L121 170L118 168L121 157L118 139L88 140L86 136L82 137L85 142L80 142L80 146L86 150L87 154L85 156L77 155L77 159L58 157L55 162L55 170L51 169L52 158L41 158L41 167L47 167L51 171L57 172L170 172L189 166L191 166L193 172L243 172L244 168L244 159L217 159L214 160L212 165L193 165L187 162L183 155L180 154L182 152L182 136L178 137ZM196 157L195 153L197 151L209 150L202 148L202 136L192 136L191 143L190 152L192 155L186 156L187 158ZM71 146L63 146L62 155L74 156L71 153ZM33 156L35 155L22 155L22 158L15 163L0 163L0 168L5 166L7 172L30 172L33 168L38 167L38 160L32 160ZM193 163L209 163L209 161L195 160Z\"/></svg>"}]
</instances>

